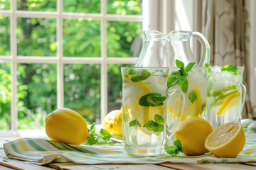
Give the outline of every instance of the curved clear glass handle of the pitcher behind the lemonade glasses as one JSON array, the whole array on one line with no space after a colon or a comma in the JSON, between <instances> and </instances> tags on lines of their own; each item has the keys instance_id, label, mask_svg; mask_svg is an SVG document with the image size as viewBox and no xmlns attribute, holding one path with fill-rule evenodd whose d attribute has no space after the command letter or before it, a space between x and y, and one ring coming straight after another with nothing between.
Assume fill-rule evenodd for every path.
<instances>
[{"instance_id":1,"label":"curved clear glass handle of the pitcher behind the lemonade glasses","mask_svg":"<svg viewBox=\"0 0 256 170\"><path fill-rule=\"evenodd\" d=\"M208 40L203 36L203 34L198 33L198 32L193 32L191 34L191 38L196 38L198 40L202 47L201 47L201 59L198 64L198 67L203 67L204 64L210 64L210 45Z\"/></svg>"}]
</instances>

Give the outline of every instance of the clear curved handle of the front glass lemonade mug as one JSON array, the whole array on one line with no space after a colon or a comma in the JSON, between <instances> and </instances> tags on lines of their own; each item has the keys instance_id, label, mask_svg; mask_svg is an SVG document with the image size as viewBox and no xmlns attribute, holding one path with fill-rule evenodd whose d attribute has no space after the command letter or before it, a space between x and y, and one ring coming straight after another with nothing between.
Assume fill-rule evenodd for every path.
<instances>
[{"instance_id":1,"label":"clear curved handle of the front glass lemonade mug","mask_svg":"<svg viewBox=\"0 0 256 170\"><path fill-rule=\"evenodd\" d=\"M180 118L183 115L184 106L185 106L185 95L183 94L182 91L179 91L177 89L171 89L168 91L167 94L168 94L168 100L174 94L178 94L180 96L177 115L176 115L176 118L177 118L176 122L174 123L174 125L170 125L170 126L169 126L168 122L166 123L166 145L170 146L171 142L172 142L171 137L174 135L174 130L175 130L176 126L178 125L178 123L181 121ZM166 112L168 112L168 111L166 111ZM169 118L169 116L167 116L167 121L168 120L170 121L171 118L169 118L169 119L168 118Z\"/></svg>"}]
</instances>

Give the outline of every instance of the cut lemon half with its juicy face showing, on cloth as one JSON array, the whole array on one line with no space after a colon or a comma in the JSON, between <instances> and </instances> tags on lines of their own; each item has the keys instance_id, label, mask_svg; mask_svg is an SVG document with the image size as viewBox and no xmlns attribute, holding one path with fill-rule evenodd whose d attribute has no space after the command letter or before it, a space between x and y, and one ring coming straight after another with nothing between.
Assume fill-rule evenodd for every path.
<instances>
[{"instance_id":1,"label":"cut lemon half with its juicy face showing, on cloth","mask_svg":"<svg viewBox=\"0 0 256 170\"><path fill-rule=\"evenodd\" d=\"M215 157L237 157L245 146L241 123L233 121L220 125L208 135L205 146Z\"/></svg>"}]
</instances>

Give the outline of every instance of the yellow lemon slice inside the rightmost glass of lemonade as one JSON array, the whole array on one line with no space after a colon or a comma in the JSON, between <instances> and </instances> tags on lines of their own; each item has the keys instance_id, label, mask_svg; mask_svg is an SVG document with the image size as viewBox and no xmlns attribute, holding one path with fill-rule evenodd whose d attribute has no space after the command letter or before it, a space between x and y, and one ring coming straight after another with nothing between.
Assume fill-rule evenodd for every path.
<instances>
[{"instance_id":1,"label":"yellow lemon slice inside the rightmost glass of lemonade","mask_svg":"<svg viewBox=\"0 0 256 170\"><path fill-rule=\"evenodd\" d=\"M230 108L232 108L235 105L238 105L239 102L240 102L240 91L236 92L235 94L230 94L230 96L225 98L216 115L225 115L225 113Z\"/></svg>"}]
</instances>

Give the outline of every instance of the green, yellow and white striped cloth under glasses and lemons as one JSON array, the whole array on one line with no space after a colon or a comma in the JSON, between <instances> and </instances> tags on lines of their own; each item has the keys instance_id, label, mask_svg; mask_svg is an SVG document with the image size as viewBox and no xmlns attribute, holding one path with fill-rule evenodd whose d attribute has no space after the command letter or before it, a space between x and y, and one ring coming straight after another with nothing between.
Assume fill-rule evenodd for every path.
<instances>
[{"instance_id":1,"label":"green, yellow and white striped cloth under glasses and lemons","mask_svg":"<svg viewBox=\"0 0 256 170\"><path fill-rule=\"evenodd\" d=\"M178 154L177 157L160 154L142 157L127 154L120 143L100 142L98 145L65 145L43 138L25 138L4 144L6 156L41 165L52 162L74 162L77 164L160 164L169 163L222 163L222 162L256 162L256 122L242 120L245 130L245 147L236 158L216 158L213 154L188 157Z\"/></svg>"}]
</instances>

